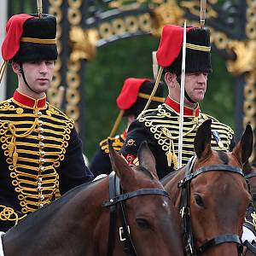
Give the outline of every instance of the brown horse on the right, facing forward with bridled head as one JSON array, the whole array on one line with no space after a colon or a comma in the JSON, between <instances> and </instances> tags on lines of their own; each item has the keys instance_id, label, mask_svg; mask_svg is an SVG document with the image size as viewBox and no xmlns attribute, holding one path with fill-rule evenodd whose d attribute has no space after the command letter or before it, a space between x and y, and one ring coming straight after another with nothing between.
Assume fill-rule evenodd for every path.
<instances>
[{"instance_id":1,"label":"brown horse on the right, facing forward with bridled head","mask_svg":"<svg viewBox=\"0 0 256 256\"><path fill-rule=\"evenodd\" d=\"M241 168L252 153L253 131L247 125L232 153L224 153L211 148L211 123L205 121L196 133L194 160L162 183L183 214L188 253L241 255L242 224L251 200Z\"/></svg>"}]
</instances>

